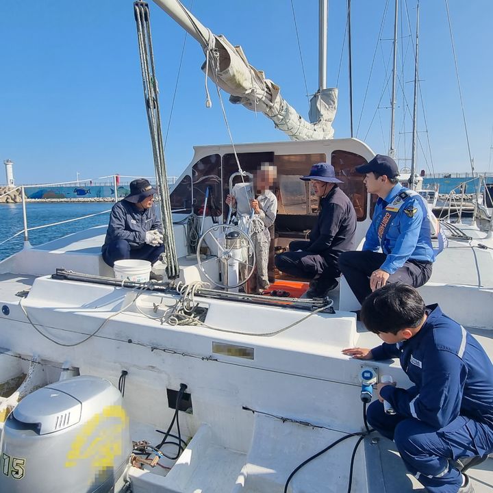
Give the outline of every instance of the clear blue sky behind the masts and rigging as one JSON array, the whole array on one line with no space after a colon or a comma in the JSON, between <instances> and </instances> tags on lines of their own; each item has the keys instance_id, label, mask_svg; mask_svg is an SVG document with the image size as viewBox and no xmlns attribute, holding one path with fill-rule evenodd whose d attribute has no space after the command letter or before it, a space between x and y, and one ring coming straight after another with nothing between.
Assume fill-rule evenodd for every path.
<instances>
[{"instance_id":1,"label":"clear blue sky behind the masts and rigging","mask_svg":"<svg viewBox=\"0 0 493 493\"><path fill-rule=\"evenodd\" d=\"M493 2L448 3L471 153L475 168L488 170L493 125ZM312 93L318 86L318 1L293 0L293 4L307 88ZM186 5L190 6L190 1ZM353 0L352 5L355 129L361 115L356 136L366 140L375 152L386 153L390 86L385 84L394 0ZM388 8L383 16L385 5ZM404 158L411 155L408 132L412 122L402 114L412 110L414 56L407 12L414 37L416 0L401 0L401 8L401 35L405 38L399 45L398 63L405 66L400 78L409 109L399 94L396 141L399 157ZM329 0L327 80L329 86L338 82L340 90L334 122L336 137L340 138L349 136L350 128L345 47L342 51L345 9L346 0ZM279 84L283 97L307 118L305 83L289 0L194 0L192 11L216 34L224 34L233 45L242 45L251 64ZM382 18L383 40L379 42ZM153 3L151 26L166 133L184 32ZM132 1L1 1L0 32L0 158L14 161L16 183L65 181L75 179L77 172L81 178L153 173ZM166 146L170 175L181 174L190 162L192 145L229 141L212 83L213 108L205 108L200 70L203 60L201 48L188 37ZM429 138L435 171L469 170L444 0L420 3L419 60L429 130L427 137L420 104L418 130L422 145L425 147ZM226 95L223 98L227 101ZM235 142L286 140L264 116L229 103L226 109ZM431 171L429 153L426 157L418 154L420 168ZM3 180L1 170L0 183Z\"/></svg>"}]
</instances>

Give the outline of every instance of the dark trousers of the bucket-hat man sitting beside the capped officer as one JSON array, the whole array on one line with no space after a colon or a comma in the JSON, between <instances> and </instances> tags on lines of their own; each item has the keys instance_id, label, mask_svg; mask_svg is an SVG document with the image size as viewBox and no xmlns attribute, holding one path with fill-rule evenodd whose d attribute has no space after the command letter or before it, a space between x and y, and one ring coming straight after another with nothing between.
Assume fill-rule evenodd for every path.
<instances>
[{"instance_id":1,"label":"dark trousers of the bucket-hat man sitting beside the capped officer","mask_svg":"<svg viewBox=\"0 0 493 493\"><path fill-rule=\"evenodd\" d=\"M307 241L290 242L290 251L275 256L275 266L281 272L302 279L319 279L333 281L340 277L337 255L317 255L304 251ZM301 250L301 251L296 251Z\"/></svg>"}]
</instances>

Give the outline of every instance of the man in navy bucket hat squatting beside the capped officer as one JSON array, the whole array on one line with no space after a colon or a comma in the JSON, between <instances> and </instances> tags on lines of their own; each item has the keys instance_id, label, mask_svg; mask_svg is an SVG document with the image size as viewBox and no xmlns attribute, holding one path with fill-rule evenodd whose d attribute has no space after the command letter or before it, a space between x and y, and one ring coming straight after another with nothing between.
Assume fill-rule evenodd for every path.
<instances>
[{"instance_id":1,"label":"man in navy bucket hat squatting beside the capped officer","mask_svg":"<svg viewBox=\"0 0 493 493\"><path fill-rule=\"evenodd\" d=\"M349 197L338 187L333 166L323 162L314 164L309 175L320 200L317 223L309 233L309 241L294 241L289 252L275 257L275 265L283 273L311 279L309 298L325 297L338 286L340 277L338 257L355 247L356 213Z\"/></svg>"}]
</instances>

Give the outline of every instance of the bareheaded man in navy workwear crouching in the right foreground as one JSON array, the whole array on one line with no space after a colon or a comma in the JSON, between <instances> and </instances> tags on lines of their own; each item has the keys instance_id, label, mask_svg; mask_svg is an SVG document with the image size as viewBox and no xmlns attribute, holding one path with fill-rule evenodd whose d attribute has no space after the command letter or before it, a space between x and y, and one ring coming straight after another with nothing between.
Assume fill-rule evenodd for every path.
<instances>
[{"instance_id":1,"label":"bareheaded man in navy workwear crouching in the right foreground","mask_svg":"<svg viewBox=\"0 0 493 493\"><path fill-rule=\"evenodd\" d=\"M493 452L493 365L464 327L425 306L418 292L390 283L364 301L361 318L383 344L342 352L399 357L414 385L379 383L368 423L394 440L404 464L430 493L473 493L464 471ZM396 414L385 414L383 400Z\"/></svg>"}]
</instances>

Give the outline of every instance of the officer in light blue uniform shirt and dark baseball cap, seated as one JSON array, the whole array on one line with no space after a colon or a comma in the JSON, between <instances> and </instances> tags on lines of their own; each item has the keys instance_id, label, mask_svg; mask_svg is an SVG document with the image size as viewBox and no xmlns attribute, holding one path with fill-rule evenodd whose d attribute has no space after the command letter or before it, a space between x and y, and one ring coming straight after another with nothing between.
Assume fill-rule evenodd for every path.
<instances>
[{"instance_id":1,"label":"officer in light blue uniform shirt and dark baseball cap, seated","mask_svg":"<svg viewBox=\"0 0 493 493\"><path fill-rule=\"evenodd\" d=\"M422 286L435 261L426 204L418 193L399 184L399 168L392 157L377 154L355 170L366 174L366 189L379 199L362 251L339 257L351 290L363 303L370 292L388 282Z\"/></svg>"}]
</instances>

